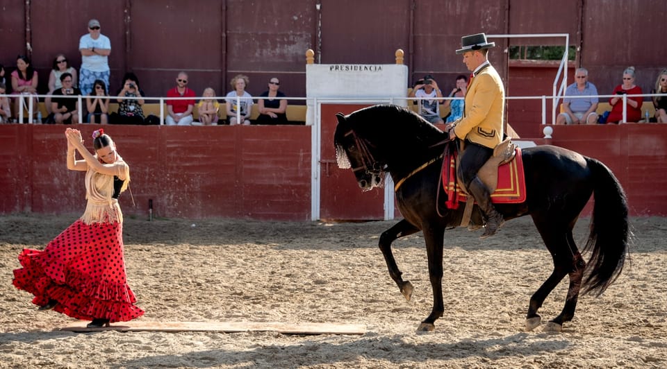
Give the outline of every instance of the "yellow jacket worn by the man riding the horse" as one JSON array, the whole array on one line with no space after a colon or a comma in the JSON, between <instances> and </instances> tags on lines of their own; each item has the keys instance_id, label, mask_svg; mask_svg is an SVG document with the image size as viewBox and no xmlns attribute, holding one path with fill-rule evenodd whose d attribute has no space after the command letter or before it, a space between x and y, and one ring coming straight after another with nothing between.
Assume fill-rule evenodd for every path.
<instances>
[{"instance_id":1,"label":"yellow jacket worn by the man riding the horse","mask_svg":"<svg viewBox=\"0 0 667 369\"><path fill-rule=\"evenodd\" d=\"M466 92L463 119L454 126L454 134L475 144L495 148L503 136L502 118L505 89L500 75L491 65L477 71Z\"/></svg>"}]
</instances>

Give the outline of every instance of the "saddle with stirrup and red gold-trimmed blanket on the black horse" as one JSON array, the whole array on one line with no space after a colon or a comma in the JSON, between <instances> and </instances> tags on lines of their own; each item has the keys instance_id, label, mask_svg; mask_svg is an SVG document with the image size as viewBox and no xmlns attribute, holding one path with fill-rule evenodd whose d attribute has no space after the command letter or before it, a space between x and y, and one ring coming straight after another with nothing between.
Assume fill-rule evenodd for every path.
<instances>
[{"instance_id":1,"label":"saddle with stirrup and red gold-trimmed blanket on the black horse","mask_svg":"<svg viewBox=\"0 0 667 369\"><path fill-rule=\"evenodd\" d=\"M465 147L463 147L463 150L465 150ZM520 153L521 149L513 144L511 139L505 139L495 146L493 155L477 172L479 179L491 191L493 203L522 203L525 201L525 177ZM476 216L474 221L470 222L475 199L470 196L468 189L456 176L458 168L458 153L447 153L443 161L442 175L443 188L447 191L447 203L445 205L449 209L458 209L459 202L465 201L466 205L463 209L460 226L468 226L471 230L480 228L483 225L481 216Z\"/></svg>"}]
</instances>

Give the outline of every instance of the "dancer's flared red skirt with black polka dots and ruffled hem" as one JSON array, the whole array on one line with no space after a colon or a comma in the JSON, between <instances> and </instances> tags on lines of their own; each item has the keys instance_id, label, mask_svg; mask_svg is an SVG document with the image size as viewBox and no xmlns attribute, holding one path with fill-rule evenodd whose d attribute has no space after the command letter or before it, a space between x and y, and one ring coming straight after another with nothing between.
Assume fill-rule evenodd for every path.
<instances>
[{"instance_id":1,"label":"dancer's flared red skirt with black polka dots and ruffled hem","mask_svg":"<svg viewBox=\"0 0 667 369\"><path fill-rule=\"evenodd\" d=\"M34 304L53 299L67 316L112 323L144 314L126 283L122 223L76 221L43 251L24 249L19 263L13 284L35 295Z\"/></svg>"}]
</instances>

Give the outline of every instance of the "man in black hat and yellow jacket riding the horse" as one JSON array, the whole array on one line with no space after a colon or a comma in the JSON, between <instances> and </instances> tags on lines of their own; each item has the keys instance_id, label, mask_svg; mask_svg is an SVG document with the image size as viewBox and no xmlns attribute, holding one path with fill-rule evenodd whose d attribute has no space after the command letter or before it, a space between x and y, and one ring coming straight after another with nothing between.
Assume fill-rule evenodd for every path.
<instances>
[{"instance_id":1,"label":"man in black hat and yellow jacket riding the horse","mask_svg":"<svg viewBox=\"0 0 667 369\"><path fill-rule=\"evenodd\" d=\"M493 46L495 42L487 42L484 33L461 37L461 49L456 53L463 54L463 63L472 74L463 118L445 127L450 139L458 137L465 141L457 174L484 212L486 230L481 235L483 239L495 234L504 223L502 215L491 203L491 191L477 176L503 137L505 89L500 75L487 59L488 49Z\"/></svg>"}]
</instances>

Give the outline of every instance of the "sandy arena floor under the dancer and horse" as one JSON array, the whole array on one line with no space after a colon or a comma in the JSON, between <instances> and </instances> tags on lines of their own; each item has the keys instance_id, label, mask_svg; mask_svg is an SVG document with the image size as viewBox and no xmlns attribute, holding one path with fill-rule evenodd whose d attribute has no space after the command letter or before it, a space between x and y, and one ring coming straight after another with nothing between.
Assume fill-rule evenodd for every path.
<instances>
[{"instance_id":1,"label":"sandy arena floor under the dancer and horse","mask_svg":"<svg viewBox=\"0 0 667 369\"><path fill-rule=\"evenodd\" d=\"M42 249L76 219L0 216L0 368L666 368L665 218L632 218L632 260L600 298L579 298L559 334L525 331L529 296L552 270L532 221L491 239L445 233L445 317L431 309L420 234L395 243L406 300L377 248L394 222L126 219L129 284L146 321L363 324L361 336L269 332L58 332L76 320L38 312L11 284L24 247ZM588 219L577 225L582 240ZM563 307L562 282L541 309ZM81 323L82 325L85 323Z\"/></svg>"}]
</instances>

